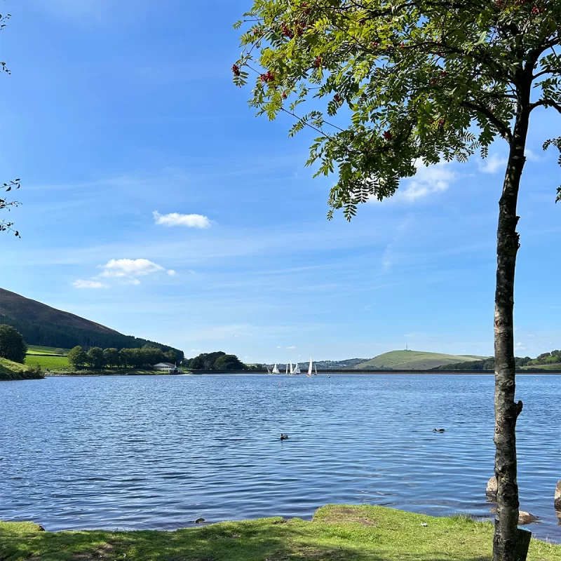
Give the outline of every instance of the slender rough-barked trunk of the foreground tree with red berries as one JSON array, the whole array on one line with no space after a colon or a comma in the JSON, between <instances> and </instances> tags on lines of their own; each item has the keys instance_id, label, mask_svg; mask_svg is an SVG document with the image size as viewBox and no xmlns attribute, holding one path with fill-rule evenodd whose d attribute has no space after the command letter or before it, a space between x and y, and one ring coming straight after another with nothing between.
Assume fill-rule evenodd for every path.
<instances>
[{"instance_id":1,"label":"slender rough-barked trunk of the foreground tree with red berries","mask_svg":"<svg viewBox=\"0 0 561 561\"><path fill-rule=\"evenodd\" d=\"M515 403L514 363L514 273L519 236L516 204L525 163L529 121L529 88L519 93L518 111L508 155L508 165L499 201L496 245L495 340L495 477L496 496L494 561L525 561L517 550L518 483L516 481L516 419L522 402ZM520 556L522 555L522 557Z\"/></svg>"}]
</instances>

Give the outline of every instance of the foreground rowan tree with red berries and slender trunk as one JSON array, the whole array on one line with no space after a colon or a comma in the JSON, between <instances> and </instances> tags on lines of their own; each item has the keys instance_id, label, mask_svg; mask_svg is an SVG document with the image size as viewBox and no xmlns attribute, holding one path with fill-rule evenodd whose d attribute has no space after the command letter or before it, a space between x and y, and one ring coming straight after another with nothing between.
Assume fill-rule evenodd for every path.
<instances>
[{"instance_id":1,"label":"foreground rowan tree with red berries and slender trunk","mask_svg":"<svg viewBox=\"0 0 561 561\"><path fill-rule=\"evenodd\" d=\"M486 157L496 137L508 145L496 245L493 550L495 561L514 561L522 411L513 350L516 207L529 116L538 107L561 113L561 3L255 0L244 18L234 82L243 86L254 72L250 105L258 114L290 114L290 135L315 131L307 165L337 175L328 217L342 209L350 220L359 203L392 196L420 165L463 162L477 150ZM561 151L561 137L549 146Z\"/></svg>"}]
</instances>

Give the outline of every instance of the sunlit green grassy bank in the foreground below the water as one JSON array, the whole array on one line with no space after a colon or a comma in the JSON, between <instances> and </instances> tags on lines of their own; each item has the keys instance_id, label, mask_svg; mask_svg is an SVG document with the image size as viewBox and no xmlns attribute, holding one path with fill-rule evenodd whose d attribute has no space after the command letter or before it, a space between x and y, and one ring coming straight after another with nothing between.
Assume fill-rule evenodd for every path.
<instances>
[{"instance_id":1,"label":"sunlit green grassy bank in the foreground below the water","mask_svg":"<svg viewBox=\"0 0 561 561\"><path fill-rule=\"evenodd\" d=\"M422 524L426 524L423 526ZM0 522L1 561L489 561L493 526L380 506L324 506L312 522L262 518L176 532L41 532ZM532 540L528 561L561 561Z\"/></svg>"}]
</instances>

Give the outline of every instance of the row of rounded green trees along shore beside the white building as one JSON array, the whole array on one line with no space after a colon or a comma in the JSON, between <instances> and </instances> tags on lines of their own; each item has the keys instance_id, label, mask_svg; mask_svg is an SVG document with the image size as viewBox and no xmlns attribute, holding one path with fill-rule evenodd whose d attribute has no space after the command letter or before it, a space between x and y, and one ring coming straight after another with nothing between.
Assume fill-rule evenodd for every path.
<instances>
[{"instance_id":1,"label":"row of rounded green trees along shore beside the white building","mask_svg":"<svg viewBox=\"0 0 561 561\"><path fill-rule=\"evenodd\" d=\"M175 364L180 358L175 351L162 351L154 346L144 345L140 349L101 349L93 346L84 350L76 345L68 353L68 363L74 368L149 368L157 363Z\"/></svg>"}]
</instances>

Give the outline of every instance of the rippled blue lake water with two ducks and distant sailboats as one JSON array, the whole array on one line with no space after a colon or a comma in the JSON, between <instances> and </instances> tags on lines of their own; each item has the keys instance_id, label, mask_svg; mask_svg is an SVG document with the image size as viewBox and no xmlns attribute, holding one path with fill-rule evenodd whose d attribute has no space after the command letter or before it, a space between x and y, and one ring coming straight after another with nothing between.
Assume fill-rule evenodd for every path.
<instances>
[{"instance_id":1,"label":"rippled blue lake water with two ducks and distant sailboats","mask_svg":"<svg viewBox=\"0 0 561 561\"><path fill-rule=\"evenodd\" d=\"M4 382L0 519L176 529L309 519L325 503L492 517L493 388L487 375L410 374ZM521 508L553 541L560 395L561 376L518 377Z\"/></svg>"}]
</instances>

